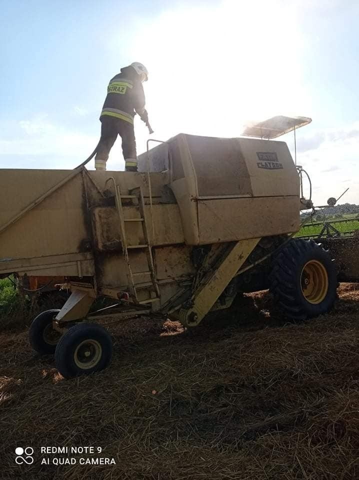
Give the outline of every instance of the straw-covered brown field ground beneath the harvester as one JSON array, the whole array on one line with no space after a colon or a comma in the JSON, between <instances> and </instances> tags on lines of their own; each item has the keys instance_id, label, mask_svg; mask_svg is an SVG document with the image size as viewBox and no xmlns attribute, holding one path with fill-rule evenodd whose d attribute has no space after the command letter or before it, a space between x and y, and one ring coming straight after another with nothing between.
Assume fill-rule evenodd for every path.
<instances>
[{"instance_id":1,"label":"straw-covered brown field ground beneath the harvester","mask_svg":"<svg viewBox=\"0 0 359 480\"><path fill-rule=\"evenodd\" d=\"M1 480L359 478L359 284L301 323L259 292L191 331L109 328L110 366L73 380L31 352L27 330L1 334ZM95 452L41 453L62 446ZM33 463L16 464L16 447ZM115 464L80 464L100 457Z\"/></svg>"}]
</instances>

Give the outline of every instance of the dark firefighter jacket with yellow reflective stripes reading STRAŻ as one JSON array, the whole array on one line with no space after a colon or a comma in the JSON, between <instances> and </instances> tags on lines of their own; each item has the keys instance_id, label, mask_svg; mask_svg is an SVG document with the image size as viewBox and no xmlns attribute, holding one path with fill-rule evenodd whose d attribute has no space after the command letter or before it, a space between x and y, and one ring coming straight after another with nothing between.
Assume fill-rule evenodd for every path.
<instances>
[{"instance_id":1,"label":"dark firefighter jacket with yellow reflective stripes reading STRA\u017b","mask_svg":"<svg viewBox=\"0 0 359 480\"><path fill-rule=\"evenodd\" d=\"M110 79L100 117L113 116L133 124L135 112L140 116L145 114L144 105L142 82L135 70L131 66L126 66Z\"/></svg>"}]
</instances>

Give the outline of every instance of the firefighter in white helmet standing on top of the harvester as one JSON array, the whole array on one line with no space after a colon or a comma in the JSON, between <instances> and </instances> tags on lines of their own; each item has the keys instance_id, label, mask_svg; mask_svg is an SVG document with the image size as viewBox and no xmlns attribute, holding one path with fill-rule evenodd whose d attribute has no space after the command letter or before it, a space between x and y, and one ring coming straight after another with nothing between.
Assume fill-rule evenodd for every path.
<instances>
[{"instance_id":1,"label":"firefighter in white helmet standing on top of the harvester","mask_svg":"<svg viewBox=\"0 0 359 480\"><path fill-rule=\"evenodd\" d=\"M96 170L106 169L109 151L117 135L120 135L125 170L137 171L133 117L138 113L141 120L148 121L142 86L142 82L147 79L147 68L138 61L121 68L121 72L111 78L99 118L101 137L94 160Z\"/></svg>"}]
</instances>

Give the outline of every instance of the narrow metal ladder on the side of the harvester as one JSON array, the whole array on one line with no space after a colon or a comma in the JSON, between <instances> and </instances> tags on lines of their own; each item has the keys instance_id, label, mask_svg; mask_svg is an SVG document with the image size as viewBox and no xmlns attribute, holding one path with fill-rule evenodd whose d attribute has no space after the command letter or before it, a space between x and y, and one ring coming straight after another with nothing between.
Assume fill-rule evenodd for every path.
<instances>
[{"instance_id":1,"label":"narrow metal ladder on the side of the harvester","mask_svg":"<svg viewBox=\"0 0 359 480\"><path fill-rule=\"evenodd\" d=\"M115 185L115 199L116 199L116 207L117 207L117 212L120 220L120 236L121 236L121 243L122 243L122 248L123 248L123 254L124 258L126 260L127 264L127 279L128 279L128 286L129 286L129 291L131 295L134 297L135 301L137 303L149 303L153 302L155 300L159 299L159 288L158 288L158 283L156 279L156 272L154 268L154 262L153 262L153 255L152 255L152 246L149 241L149 236L148 236L148 228L147 228L147 223L146 223L146 216L144 212L144 198L143 198L143 191L142 187L136 187L133 188L132 190L129 190L129 193L131 191L139 189L139 197L137 195L121 195L119 185ZM139 211L139 217L136 218L124 218L123 214L123 207L122 207L122 198L137 198L138 201L138 211ZM144 243L143 244L137 244L137 245L129 245L127 242L127 235L126 235L126 229L125 225L127 222L140 222L142 225L142 232L143 232L143 238L144 238ZM129 249L144 249L146 253L146 258L147 258L147 265L148 265L148 270L141 271L141 272L133 272L131 268L131 263L129 259L129 254L128 250ZM155 297L149 298L147 300L142 300L138 301L138 296L137 296L137 291L136 291L136 284L134 282L134 277L138 275L145 275L149 274L151 283L152 283L152 288L155 292Z\"/></svg>"}]
</instances>

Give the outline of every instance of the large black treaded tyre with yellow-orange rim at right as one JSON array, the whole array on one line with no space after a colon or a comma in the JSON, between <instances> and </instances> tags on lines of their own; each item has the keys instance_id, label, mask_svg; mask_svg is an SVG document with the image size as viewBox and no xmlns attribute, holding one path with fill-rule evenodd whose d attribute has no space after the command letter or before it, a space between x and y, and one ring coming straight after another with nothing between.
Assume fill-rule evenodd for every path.
<instances>
[{"instance_id":1,"label":"large black treaded tyre with yellow-orange rim at right","mask_svg":"<svg viewBox=\"0 0 359 480\"><path fill-rule=\"evenodd\" d=\"M314 240L290 240L273 259L269 280L276 303L296 320L327 312L336 299L334 262Z\"/></svg>"}]
</instances>

